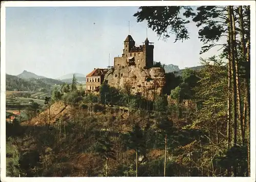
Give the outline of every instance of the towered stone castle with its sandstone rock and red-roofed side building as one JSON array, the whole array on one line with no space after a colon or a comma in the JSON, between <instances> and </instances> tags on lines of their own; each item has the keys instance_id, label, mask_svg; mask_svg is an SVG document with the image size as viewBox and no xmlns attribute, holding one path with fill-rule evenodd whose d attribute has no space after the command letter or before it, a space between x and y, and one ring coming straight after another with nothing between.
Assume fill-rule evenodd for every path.
<instances>
[{"instance_id":1,"label":"towered stone castle with its sandstone rock and red-roofed side building","mask_svg":"<svg viewBox=\"0 0 256 182\"><path fill-rule=\"evenodd\" d=\"M142 45L136 47L133 37L128 35L122 56L114 58L111 69L95 69L87 75L87 90L98 93L103 81L119 89L126 83L130 84L132 94L145 94L145 90L151 96L161 94L165 72L161 67L154 67L154 43L146 38Z\"/></svg>"}]
</instances>

